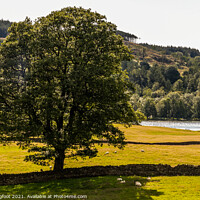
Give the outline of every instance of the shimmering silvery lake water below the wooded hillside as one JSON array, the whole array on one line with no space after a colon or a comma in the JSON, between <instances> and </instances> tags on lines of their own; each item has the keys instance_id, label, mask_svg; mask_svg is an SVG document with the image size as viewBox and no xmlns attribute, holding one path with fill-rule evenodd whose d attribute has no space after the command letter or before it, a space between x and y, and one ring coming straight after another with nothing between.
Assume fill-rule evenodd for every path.
<instances>
[{"instance_id":1,"label":"shimmering silvery lake water below the wooded hillside","mask_svg":"<svg viewBox=\"0 0 200 200\"><path fill-rule=\"evenodd\" d=\"M184 130L200 131L200 121L143 121L142 126L160 126Z\"/></svg>"}]
</instances>

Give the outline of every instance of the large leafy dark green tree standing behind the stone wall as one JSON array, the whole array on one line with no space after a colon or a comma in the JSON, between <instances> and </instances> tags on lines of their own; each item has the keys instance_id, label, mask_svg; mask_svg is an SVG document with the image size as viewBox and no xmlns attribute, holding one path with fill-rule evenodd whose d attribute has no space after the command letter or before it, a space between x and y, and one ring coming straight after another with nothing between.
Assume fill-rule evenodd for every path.
<instances>
[{"instance_id":1,"label":"large leafy dark green tree standing behind the stone wall","mask_svg":"<svg viewBox=\"0 0 200 200\"><path fill-rule=\"evenodd\" d=\"M136 120L120 67L130 54L105 16L68 7L34 23L27 18L12 24L0 51L1 139L44 144L31 146L40 153L27 160L54 158L54 170L62 170L69 150L95 156L94 139L124 145L113 123Z\"/></svg>"}]
</instances>

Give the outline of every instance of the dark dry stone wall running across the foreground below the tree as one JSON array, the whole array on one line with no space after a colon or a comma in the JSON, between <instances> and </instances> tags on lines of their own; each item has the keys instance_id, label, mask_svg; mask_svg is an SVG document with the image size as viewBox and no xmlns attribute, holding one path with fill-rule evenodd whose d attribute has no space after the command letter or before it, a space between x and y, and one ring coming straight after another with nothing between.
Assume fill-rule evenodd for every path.
<instances>
[{"instance_id":1,"label":"dark dry stone wall running across the foreground below the tree","mask_svg":"<svg viewBox=\"0 0 200 200\"><path fill-rule=\"evenodd\" d=\"M0 185L16 185L26 183L47 182L66 178L95 176L200 176L200 166L193 165L154 165L130 164L120 166L92 166L66 168L60 172L45 171L23 174L1 174Z\"/></svg>"}]
</instances>

